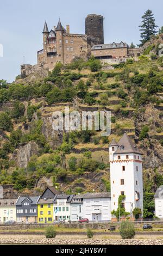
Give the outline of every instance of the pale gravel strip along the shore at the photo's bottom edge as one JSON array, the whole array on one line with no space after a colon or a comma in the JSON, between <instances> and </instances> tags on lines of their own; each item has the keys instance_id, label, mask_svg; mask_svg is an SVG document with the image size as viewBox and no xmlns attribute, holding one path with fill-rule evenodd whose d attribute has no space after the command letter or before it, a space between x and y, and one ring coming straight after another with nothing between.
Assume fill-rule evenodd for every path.
<instances>
[{"instance_id":1,"label":"pale gravel strip along the shore at the photo's bottom edge","mask_svg":"<svg viewBox=\"0 0 163 256\"><path fill-rule=\"evenodd\" d=\"M33 245L163 245L163 239L7 239L0 244Z\"/></svg>"}]
</instances>

